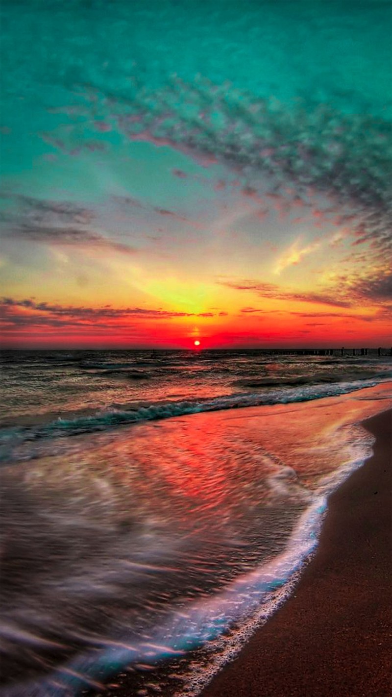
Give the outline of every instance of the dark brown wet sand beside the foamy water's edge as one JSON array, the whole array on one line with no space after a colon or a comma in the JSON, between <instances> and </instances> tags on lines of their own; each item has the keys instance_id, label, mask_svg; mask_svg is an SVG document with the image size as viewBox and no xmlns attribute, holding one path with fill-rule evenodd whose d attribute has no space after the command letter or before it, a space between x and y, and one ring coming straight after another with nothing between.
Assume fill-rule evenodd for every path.
<instances>
[{"instance_id":1,"label":"dark brown wet sand beside the foamy water's edge","mask_svg":"<svg viewBox=\"0 0 392 697\"><path fill-rule=\"evenodd\" d=\"M203 697L392 695L391 412L364 425L375 454L329 498L294 595Z\"/></svg>"}]
</instances>

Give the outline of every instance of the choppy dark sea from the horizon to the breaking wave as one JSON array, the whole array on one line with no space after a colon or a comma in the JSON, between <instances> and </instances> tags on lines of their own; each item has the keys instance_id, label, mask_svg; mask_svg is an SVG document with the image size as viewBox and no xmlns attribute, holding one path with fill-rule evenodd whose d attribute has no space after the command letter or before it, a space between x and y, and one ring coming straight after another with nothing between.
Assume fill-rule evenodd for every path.
<instances>
[{"instance_id":1,"label":"choppy dark sea from the horizon to the breaking wave","mask_svg":"<svg viewBox=\"0 0 392 697\"><path fill-rule=\"evenodd\" d=\"M3 351L2 461L31 457L42 438L50 448L56 436L369 387L391 375L387 353Z\"/></svg>"}]
</instances>

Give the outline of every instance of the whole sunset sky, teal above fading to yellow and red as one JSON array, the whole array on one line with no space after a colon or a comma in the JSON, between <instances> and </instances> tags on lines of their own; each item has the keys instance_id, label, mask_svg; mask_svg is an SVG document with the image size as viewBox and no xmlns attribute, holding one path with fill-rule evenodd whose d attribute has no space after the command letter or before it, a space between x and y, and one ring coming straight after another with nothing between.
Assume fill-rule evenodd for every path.
<instances>
[{"instance_id":1,"label":"whole sunset sky, teal above fading to yellow and red","mask_svg":"<svg viewBox=\"0 0 392 697\"><path fill-rule=\"evenodd\" d=\"M389 1L1 5L4 348L391 345Z\"/></svg>"}]
</instances>

